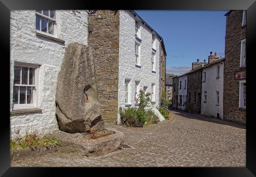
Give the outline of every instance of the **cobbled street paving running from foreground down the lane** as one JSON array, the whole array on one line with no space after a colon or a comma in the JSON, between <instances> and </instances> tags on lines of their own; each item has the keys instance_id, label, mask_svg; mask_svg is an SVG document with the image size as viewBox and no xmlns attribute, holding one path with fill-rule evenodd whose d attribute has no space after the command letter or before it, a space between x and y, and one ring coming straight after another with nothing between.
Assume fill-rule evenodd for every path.
<instances>
[{"instance_id":1,"label":"cobbled street paving running from foreground down the lane","mask_svg":"<svg viewBox=\"0 0 256 177\"><path fill-rule=\"evenodd\" d=\"M11 162L12 167L245 167L246 129L243 125L171 111L170 120L143 128L107 123L124 133L122 148L104 157L49 153Z\"/></svg>"}]
</instances>

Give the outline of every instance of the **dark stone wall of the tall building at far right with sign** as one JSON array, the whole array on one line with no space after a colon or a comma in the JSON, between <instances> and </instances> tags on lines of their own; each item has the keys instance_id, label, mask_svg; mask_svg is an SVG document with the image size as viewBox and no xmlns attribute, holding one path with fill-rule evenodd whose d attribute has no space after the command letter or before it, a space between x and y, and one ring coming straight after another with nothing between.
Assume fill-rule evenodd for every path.
<instances>
[{"instance_id":1,"label":"dark stone wall of the tall building at far right with sign","mask_svg":"<svg viewBox=\"0 0 256 177\"><path fill-rule=\"evenodd\" d=\"M242 18L243 10L233 10L226 15L223 118L246 124L246 110L239 108L239 80L234 79L235 72L246 71L239 68L241 40L246 38Z\"/></svg>"}]
</instances>

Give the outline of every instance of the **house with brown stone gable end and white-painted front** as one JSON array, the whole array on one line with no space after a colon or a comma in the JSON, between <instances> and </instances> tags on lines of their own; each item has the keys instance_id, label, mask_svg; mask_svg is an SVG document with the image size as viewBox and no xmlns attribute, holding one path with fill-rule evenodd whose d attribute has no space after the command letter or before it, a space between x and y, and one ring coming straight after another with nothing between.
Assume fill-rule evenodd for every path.
<instances>
[{"instance_id":1,"label":"house with brown stone gable end and white-painted front","mask_svg":"<svg viewBox=\"0 0 256 177\"><path fill-rule=\"evenodd\" d=\"M88 45L95 50L103 118L119 124L119 107L138 106L139 89L151 92L152 105L159 107L165 47L163 38L132 10L103 10L100 24L97 15L90 15Z\"/></svg>"}]
</instances>

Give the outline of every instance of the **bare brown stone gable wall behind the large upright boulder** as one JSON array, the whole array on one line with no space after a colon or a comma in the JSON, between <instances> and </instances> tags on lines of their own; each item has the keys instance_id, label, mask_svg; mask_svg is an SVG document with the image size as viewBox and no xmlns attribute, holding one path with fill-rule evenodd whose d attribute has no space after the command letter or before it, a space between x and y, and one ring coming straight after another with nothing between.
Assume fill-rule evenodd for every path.
<instances>
[{"instance_id":1,"label":"bare brown stone gable wall behind the large upright boulder","mask_svg":"<svg viewBox=\"0 0 256 177\"><path fill-rule=\"evenodd\" d=\"M119 72L119 11L102 10L102 23L96 22L98 11L90 15L93 31L88 46L93 48L98 96L102 117L107 122L117 121Z\"/></svg>"}]
</instances>

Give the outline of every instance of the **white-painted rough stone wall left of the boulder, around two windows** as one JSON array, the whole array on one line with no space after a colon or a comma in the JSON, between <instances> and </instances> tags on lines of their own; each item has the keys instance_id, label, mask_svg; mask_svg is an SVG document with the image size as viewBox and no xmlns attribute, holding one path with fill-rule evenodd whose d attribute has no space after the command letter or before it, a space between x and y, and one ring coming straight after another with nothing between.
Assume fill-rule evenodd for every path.
<instances>
[{"instance_id":1,"label":"white-painted rough stone wall left of the boulder, around two windows","mask_svg":"<svg viewBox=\"0 0 256 177\"><path fill-rule=\"evenodd\" d=\"M11 134L20 129L37 130L45 135L58 130L55 117L55 94L60 66L70 42L87 45L87 21L85 10L59 10L58 38L65 44L35 35L35 10L10 11L10 111L12 111L14 61L41 65L39 68L39 106L42 113L10 116Z\"/></svg>"}]
</instances>

